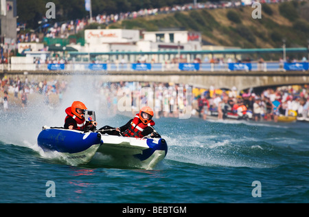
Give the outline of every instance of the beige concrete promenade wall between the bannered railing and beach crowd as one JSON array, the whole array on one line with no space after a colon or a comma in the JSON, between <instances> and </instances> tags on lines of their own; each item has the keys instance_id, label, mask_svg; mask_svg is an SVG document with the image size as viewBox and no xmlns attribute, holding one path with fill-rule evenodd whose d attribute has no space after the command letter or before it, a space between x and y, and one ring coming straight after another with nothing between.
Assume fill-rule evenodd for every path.
<instances>
[{"instance_id":1,"label":"beige concrete promenade wall between the bannered railing and beach crowd","mask_svg":"<svg viewBox=\"0 0 309 217\"><path fill-rule=\"evenodd\" d=\"M194 87L238 89L309 84L309 71L0 71L3 76L27 76L29 80L64 79L73 76L104 76L106 82L174 82Z\"/></svg>"}]
</instances>

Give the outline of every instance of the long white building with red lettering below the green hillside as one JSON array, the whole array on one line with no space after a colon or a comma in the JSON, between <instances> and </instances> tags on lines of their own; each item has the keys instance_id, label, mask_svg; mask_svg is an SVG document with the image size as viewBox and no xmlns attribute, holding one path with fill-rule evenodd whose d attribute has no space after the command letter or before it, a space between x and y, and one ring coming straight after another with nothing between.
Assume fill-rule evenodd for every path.
<instances>
[{"instance_id":1,"label":"long white building with red lettering below the green hillside","mask_svg":"<svg viewBox=\"0 0 309 217\"><path fill-rule=\"evenodd\" d=\"M139 30L85 30L88 52L142 51L181 49L201 50L201 33L190 31L143 32ZM101 51L98 51L101 49Z\"/></svg>"}]
</instances>

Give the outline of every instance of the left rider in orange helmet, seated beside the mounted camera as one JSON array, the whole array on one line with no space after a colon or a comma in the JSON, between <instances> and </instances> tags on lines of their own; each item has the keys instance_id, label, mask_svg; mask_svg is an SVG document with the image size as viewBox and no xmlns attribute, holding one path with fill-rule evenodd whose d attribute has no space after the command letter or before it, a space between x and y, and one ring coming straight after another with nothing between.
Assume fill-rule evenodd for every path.
<instances>
[{"instance_id":1,"label":"left rider in orange helmet, seated beside the mounted camera","mask_svg":"<svg viewBox=\"0 0 309 217\"><path fill-rule=\"evenodd\" d=\"M74 101L73 104L65 109L67 117L65 117L65 129L69 130L93 130L97 122L86 121L84 118L84 110L87 107L80 101Z\"/></svg>"}]
</instances>

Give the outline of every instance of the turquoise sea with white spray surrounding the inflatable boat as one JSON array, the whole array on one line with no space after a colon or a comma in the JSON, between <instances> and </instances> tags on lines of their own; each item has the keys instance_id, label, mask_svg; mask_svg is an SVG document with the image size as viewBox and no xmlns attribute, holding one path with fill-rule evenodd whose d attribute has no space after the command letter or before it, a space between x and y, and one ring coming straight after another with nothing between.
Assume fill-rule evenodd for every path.
<instances>
[{"instance_id":1,"label":"turquoise sea with white spray surrounding the inflatable boat","mask_svg":"<svg viewBox=\"0 0 309 217\"><path fill-rule=\"evenodd\" d=\"M161 118L168 155L155 170L99 154L71 166L36 144L43 125L62 125L64 109L0 111L0 203L309 202L309 124ZM99 126L128 120L99 114Z\"/></svg>"}]
</instances>

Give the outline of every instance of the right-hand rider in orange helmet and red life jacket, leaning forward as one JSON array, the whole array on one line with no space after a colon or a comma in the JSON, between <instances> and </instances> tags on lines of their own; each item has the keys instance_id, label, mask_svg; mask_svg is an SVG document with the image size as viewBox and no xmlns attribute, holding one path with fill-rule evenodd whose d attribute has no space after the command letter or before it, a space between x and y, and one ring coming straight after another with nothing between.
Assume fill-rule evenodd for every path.
<instances>
[{"instance_id":1,"label":"right-hand rider in orange helmet and red life jacket, leaning forward","mask_svg":"<svg viewBox=\"0 0 309 217\"><path fill-rule=\"evenodd\" d=\"M161 138L153 128L155 126L155 122L152 120L153 114L149 106L144 106L133 119L130 119L124 126L116 128L116 130L125 137L142 138L151 135L151 137Z\"/></svg>"}]
</instances>

